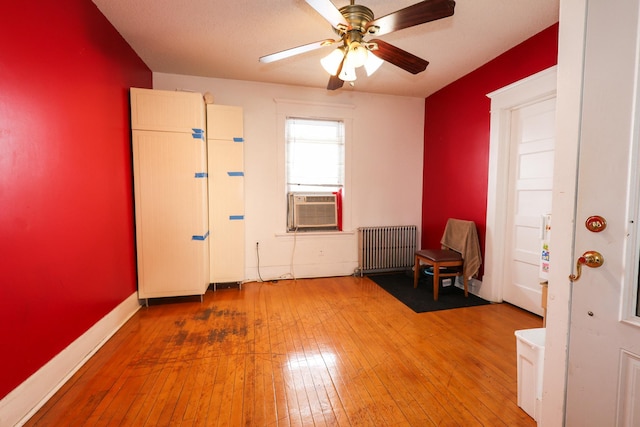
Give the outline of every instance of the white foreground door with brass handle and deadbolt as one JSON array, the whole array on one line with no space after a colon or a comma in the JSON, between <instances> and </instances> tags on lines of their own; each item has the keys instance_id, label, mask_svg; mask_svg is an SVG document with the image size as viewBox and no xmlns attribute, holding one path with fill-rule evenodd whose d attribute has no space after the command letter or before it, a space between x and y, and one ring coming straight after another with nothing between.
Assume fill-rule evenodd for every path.
<instances>
[{"instance_id":1,"label":"white foreground door with brass handle and deadbolt","mask_svg":"<svg viewBox=\"0 0 640 427\"><path fill-rule=\"evenodd\" d=\"M638 2L585 4L573 263L594 250L604 264L570 285L566 425L640 426ZM587 229L592 215L603 231Z\"/></svg>"}]
</instances>

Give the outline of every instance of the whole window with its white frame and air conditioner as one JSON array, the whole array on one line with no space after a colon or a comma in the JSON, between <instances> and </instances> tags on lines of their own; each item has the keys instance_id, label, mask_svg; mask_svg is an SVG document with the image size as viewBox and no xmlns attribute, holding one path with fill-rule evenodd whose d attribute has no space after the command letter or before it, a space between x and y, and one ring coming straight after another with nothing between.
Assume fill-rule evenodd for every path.
<instances>
[{"instance_id":1,"label":"whole window with its white frame and air conditioner","mask_svg":"<svg viewBox=\"0 0 640 427\"><path fill-rule=\"evenodd\" d=\"M355 105L274 99L277 106L278 197L274 205L294 232L351 232L349 193ZM318 194L320 193L320 194ZM334 195L334 193L337 193ZM335 206L333 218L330 207ZM331 224L337 224L335 226ZM338 233L336 233L338 234Z\"/></svg>"}]
</instances>

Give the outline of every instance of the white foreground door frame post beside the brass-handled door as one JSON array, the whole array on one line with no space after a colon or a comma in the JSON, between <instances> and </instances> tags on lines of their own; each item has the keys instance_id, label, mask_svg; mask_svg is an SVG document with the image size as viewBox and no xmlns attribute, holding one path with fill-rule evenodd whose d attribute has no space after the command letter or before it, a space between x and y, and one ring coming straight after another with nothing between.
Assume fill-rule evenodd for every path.
<instances>
[{"instance_id":1,"label":"white foreground door frame post beside the brass-handled door","mask_svg":"<svg viewBox=\"0 0 640 427\"><path fill-rule=\"evenodd\" d=\"M575 262L578 153L587 5L589 0L561 1L558 33L558 96L553 176L553 259L549 269L547 333L539 425L565 422L571 283Z\"/></svg>"}]
</instances>

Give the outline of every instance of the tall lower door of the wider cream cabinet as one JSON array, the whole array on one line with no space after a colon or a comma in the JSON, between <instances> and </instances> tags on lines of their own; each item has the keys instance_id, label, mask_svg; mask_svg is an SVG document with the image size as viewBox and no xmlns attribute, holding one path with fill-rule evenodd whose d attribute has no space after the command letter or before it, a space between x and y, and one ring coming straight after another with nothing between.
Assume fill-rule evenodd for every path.
<instances>
[{"instance_id":1,"label":"tall lower door of the wider cream cabinet","mask_svg":"<svg viewBox=\"0 0 640 427\"><path fill-rule=\"evenodd\" d=\"M209 285L204 144L186 133L133 132L140 298Z\"/></svg>"}]
</instances>

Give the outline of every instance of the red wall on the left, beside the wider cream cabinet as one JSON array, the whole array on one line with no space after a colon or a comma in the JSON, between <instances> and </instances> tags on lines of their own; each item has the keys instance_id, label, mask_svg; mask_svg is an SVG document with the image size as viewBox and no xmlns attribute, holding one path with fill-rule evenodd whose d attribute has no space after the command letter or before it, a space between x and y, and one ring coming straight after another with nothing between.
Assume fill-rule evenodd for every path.
<instances>
[{"instance_id":1,"label":"red wall on the left, beside the wider cream cabinet","mask_svg":"<svg viewBox=\"0 0 640 427\"><path fill-rule=\"evenodd\" d=\"M0 13L0 398L136 291L128 88L88 0Z\"/></svg>"}]
</instances>

